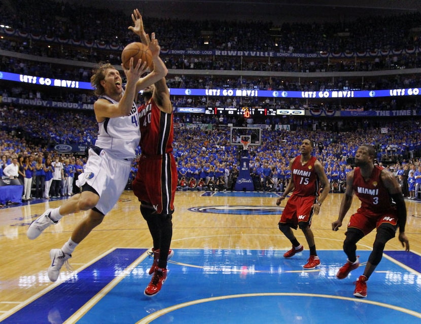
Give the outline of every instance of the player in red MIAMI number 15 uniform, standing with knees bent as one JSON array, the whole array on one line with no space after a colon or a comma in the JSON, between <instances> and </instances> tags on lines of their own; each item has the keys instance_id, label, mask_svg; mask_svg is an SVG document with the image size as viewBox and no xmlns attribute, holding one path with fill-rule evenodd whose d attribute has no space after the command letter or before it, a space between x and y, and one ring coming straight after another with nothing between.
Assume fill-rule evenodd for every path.
<instances>
[{"instance_id":1,"label":"player in red MIAMI number 15 uniform, standing with knees bent","mask_svg":"<svg viewBox=\"0 0 421 324\"><path fill-rule=\"evenodd\" d=\"M280 217L278 227L292 243L292 249L284 254L285 258L290 258L304 250L291 228L300 227L303 231L310 250L310 257L303 265L304 269L313 269L320 264L310 225L313 214L319 214L320 207L329 193L329 180L324 168L320 161L311 155L313 146L312 140L303 140L300 147L301 155L290 161L291 181L283 195L276 200L276 205L279 206L287 194L292 191ZM324 189L318 199L319 184Z\"/></svg>"}]
</instances>

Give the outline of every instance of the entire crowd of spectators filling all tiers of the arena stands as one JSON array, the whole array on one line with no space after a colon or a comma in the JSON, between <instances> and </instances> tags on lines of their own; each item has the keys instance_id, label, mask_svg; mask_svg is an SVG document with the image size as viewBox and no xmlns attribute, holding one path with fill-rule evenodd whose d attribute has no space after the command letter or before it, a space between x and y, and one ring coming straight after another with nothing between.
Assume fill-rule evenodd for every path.
<instances>
[{"instance_id":1,"label":"entire crowd of spectators filling all tiers of the arena stands","mask_svg":"<svg viewBox=\"0 0 421 324\"><path fill-rule=\"evenodd\" d=\"M14 11L13 7L19 8ZM16 0L10 7L0 4L2 23L10 26L10 30L19 30L21 34L35 36L47 35L61 39L92 41L115 47L133 42L132 34L126 26L131 24L129 16L108 9L92 9L46 0L42 3L28 0ZM11 10L12 9L12 10ZM16 12L19 12L17 15ZM27 19L27 17L31 19ZM47 17L59 17L48 19ZM283 24L275 46L270 35L270 27L276 22L221 22L168 20L145 17L145 25L150 27L147 32L154 31L162 46L162 57L170 69L206 69L229 71L283 71L283 72L329 72L329 71L378 71L390 69L407 69L421 67L421 59L416 52L391 54L367 58L249 58L234 56L178 56L165 54L165 50L185 49L218 49L218 50L254 50L274 51L277 53L318 53L320 51L358 52L372 49L390 51L395 49L415 49L421 46L419 32L413 29L421 23L420 13L410 13L391 17L376 17L375 19L357 19L342 23L289 23ZM98 28L92 21L100 22ZM338 38L337 32L347 28L350 35ZM209 44L203 44L200 30L213 31L218 37L209 39ZM321 32L324 31L324 32ZM382 35L376 37L373 35ZM23 36L7 36L0 39L0 49L14 53L30 54L34 57L57 58L68 60L68 64L44 63L37 59L20 59L12 56L2 56L0 70L13 73L23 73L37 76L48 76L63 79L74 79L87 82L90 70L78 66L78 62L97 63L101 60L110 61L119 66L119 50L101 50L99 48L84 49L83 46L62 45L58 41L45 46L45 41ZM72 63L73 62L73 63ZM293 90L319 91L329 89L400 89L421 86L419 74L396 74L379 76L376 73L364 78L318 77L298 78L273 76L221 76L217 73L209 75L169 74L167 83L170 88L233 88L259 90ZM29 84L7 84L2 81L0 95L3 97L40 98L93 103L95 97L88 91L73 91L64 89L32 88ZM45 89L45 90L44 90ZM41 92L41 93L40 93ZM176 108L174 120L174 156L177 158L179 178L184 182L181 190L197 187L227 190L233 187L242 147L230 144L228 124L237 123L236 118L227 115L193 115L177 112L178 107L215 107L219 105L239 105L240 98L235 97L171 97ZM252 98L250 105L271 105L275 108L297 107L306 104L311 108L314 102L308 100L288 99L267 101L267 98ZM414 99L404 98L397 102L392 99L342 100L325 102L325 108L365 110L414 109L419 114L421 105ZM0 153L4 156L1 165L10 163L14 156L42 156L44 161L48 156L59 155L66 165L83 166L84 156L76 154L59 154L54 150L58 143L81 144L90 146L95 143L97 125L91 111L59 110L53 108L33 108L4 104L0 108ZM418 118L312 118L273 117L270 120L256 118L255 124L264 124L268 128L262 130L262 144L250 146L250 169L256 189L282 191L290 178L289 160L299 154L298 146L305 138L311 138L317 143L313 154L325 166L326 173L332 184L331 190L340 191L344 175L352 166L352 158L357 147L362 143L373 144L378 149L378 160L391 171L397 173L406 165L413 173L420 166L421 134ZM288 124L294 131L274 130L275 125ZM205 125L205 126L204 126ZM209 126L210 125L210 126ZM242 126L247 126L243 124ZM387 133L381 130L387 129ZM141 154L140 149L136 152ZM381 163L381 162L380 162ZM67 169L66 169L67 170ZM75 167L76 170L76 167ZM80 167L79 167L80 170ZM131 179L136 171L136 161L133 163ZM0 168L2 172L2 168ZM76 172L77 173L77 172ZM1 174L0 174L1 176ZM131 181L129 180L129 183ZM190 180L194 179L190 183ZM213 179L213 180L212 180ZM414 177L414 185L418 178ZM421 179L421 177L419 178ZM211 183L209 183L211 180ZM212 183L212 181L214 183ZM337 184L337 185L336 185ZM415 189L414 189L415 190Z\"/></svg>"}]
</instances>

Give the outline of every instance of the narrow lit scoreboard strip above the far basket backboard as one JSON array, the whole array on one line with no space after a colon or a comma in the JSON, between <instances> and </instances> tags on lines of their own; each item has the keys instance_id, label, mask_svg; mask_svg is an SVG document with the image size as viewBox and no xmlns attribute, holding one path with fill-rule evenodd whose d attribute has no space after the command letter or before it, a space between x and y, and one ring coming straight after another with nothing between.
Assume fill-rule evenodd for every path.
<instances>
[{"instance_id":1,"label":"narrow lit scoreboard strip above the far basket backboard","mask_svg":"<svg viewBox=\"0 0 421 324\"><path fill-rule=\"evenodd\" d=\"M262 107L207 107L205 110L207 115L234 115L250 118L253 116L276 116L276 115L304 115L301 109L274 109Z\"/></svg>"}]
</instances>

